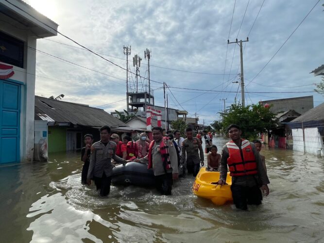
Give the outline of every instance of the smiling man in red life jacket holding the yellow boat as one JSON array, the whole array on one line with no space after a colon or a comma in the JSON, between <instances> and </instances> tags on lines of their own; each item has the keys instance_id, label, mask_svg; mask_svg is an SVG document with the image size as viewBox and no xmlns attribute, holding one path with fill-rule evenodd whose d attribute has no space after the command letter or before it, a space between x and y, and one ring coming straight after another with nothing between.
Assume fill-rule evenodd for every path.
<instances>
[{"instance_id":1,"label":"smiling man in red life jacket holding the yellow boat","mask_svg":"<svg viewBox=\"0 0 324 243\"><path fill-rule=\"evenodd\" d=\"M269 194L270 181L254 143L241 139L242 132L236 124L229 125L227 131L232 140L223 146L218 184L225 183L228 165L234 204L236 208L247 210L248 204L261 204L260 187L266 196Z\"/></svg>"}]
</instances>

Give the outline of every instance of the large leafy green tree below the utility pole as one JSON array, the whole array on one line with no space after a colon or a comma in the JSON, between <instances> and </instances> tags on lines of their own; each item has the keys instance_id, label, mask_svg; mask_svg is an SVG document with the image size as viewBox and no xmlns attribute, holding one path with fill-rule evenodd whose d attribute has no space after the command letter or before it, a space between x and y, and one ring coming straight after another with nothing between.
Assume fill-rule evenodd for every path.
<instances>
[{"instance_id":1,"label":"large leafy green tree below the utility pole","mask_svg":"<svg viewBox=\"0 0 324 243\"><path fill-rule=\"evenodd\" d=\"M266 108L262 104L242 107L239 102L235 101L221 115L224 131L227 132L226 128L230 124L237 124L242 131L242 138L250 140L256 139L257 133L270 130L277 123L275 114L270 111L270 108Z\"/></svg>"}]
</instances>

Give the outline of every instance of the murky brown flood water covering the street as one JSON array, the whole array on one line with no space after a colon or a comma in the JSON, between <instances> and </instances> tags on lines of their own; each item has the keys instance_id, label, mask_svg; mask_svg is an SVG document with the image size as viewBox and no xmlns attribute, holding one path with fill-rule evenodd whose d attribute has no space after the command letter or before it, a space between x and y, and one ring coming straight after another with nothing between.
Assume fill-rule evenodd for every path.
<instances>
[{"instance_id":1,"label":"murky brown flood water covering the street","mask_svg":"<svg viewBox=\"0 0 324 243\"><path fill-rule=\"evenodd\" d=\"M226 140L214 138L221 152ZM181 178L172 196L133 186L108 198L81 185L80 154L0 168L0 242L324 242L324 159L263 148L270 195L240 211Z\"/></svg>"}]
</instances>

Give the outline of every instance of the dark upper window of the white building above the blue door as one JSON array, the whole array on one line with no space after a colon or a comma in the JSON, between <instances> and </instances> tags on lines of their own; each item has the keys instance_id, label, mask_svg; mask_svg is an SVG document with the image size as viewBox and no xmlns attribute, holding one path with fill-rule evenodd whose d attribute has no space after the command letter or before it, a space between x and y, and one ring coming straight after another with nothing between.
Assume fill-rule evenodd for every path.
<instances>
[{"instance_id":1,"label":"dark upper window of the white building above the blue door","mask_svg":"<svg viewBox=\"0 0 324 243\"><path fill-rule=\"evenodd\" d=\"M24 42L0 32L0 61L24 68Z\"/></svg>"}]
</instances>

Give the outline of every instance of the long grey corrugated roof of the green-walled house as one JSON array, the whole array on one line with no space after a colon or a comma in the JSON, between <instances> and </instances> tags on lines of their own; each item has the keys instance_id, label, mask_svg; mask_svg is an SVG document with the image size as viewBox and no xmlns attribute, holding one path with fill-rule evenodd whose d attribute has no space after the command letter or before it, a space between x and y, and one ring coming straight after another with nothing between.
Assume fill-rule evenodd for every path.
<instances>
[{"instance_id":1,"label":"long grey corrugated roof of the green-walled house","mask_svg":"<svg viewBox=\"0 0 324 243\"><path fill-rule=\"evenodd\" d=\"M129 127L122 121L108 114L102 109L75 104L64 101L56 101L40 96L35 96L35 113L46 114L56 122L69 122L74 125L102 127Z\"/></svg>"}]
</instances>

